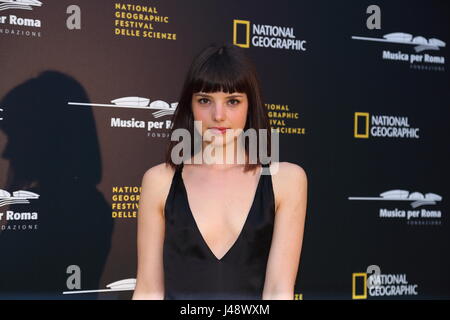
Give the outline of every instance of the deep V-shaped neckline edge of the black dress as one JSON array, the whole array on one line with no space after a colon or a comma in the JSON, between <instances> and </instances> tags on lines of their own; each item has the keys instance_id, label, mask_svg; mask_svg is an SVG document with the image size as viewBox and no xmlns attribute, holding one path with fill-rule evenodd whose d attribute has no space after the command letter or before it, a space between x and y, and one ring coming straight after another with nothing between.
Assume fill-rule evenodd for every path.
<instances>
[{"instance_id":1,"label":"deep V-shaped neckline edge of the black dress","mask_svg":"<svg viewBox=\"0 0 450 320\"><path fill-rule=\"evenodd\" d=\"M222 261L230 254L230 252L234 249L234 247L236 247L237 243L238 243L239 240L242 238L242 234L244 233L244 230L245 230L245 228L246 228L246 226L247 226L247 224L248 224L248 221L250 220L250 219L249 219L249 218L250 218L250 215L251 215L252 211L254 211L253 208L255 207L255 204L256 204L256 197L257 197L257 195L258 195L258 191L259 191L260 186L261 186L262 173L263 173L263 169L264 169L264 168L263 168L262 166L261 166L261 168L260 168L260 173L259 173L259 178L258 178L258 184L257 184L257 186L256 186L256 190L255 190L255 193L254 193L254 195L253 195L253 200L252 200L250 209L249 209L249 211L247 212L247 215L246 215L246 217L245 217L245 221L244 221L244 224L242 225L241 231L239 232L239 234L238 234L236 240L233 242L233 244L231 245L231 247L225 252L225 254L224 254L224 255L222 256L222 258L220 258L220 259L217 258L217 256L214 254L214 252L213 252L213 251L211 250L211 248L209 247L208 243L207 243L206 240L205 240L205 237L203 236L203 233L201 232L201 230L200 230L200 228L199 228L199 226L198 226L198 224L197 224L197 221L195 220L194 214L192 213L191 205L190 205L190 203L189 203L188 193L187 193L186 186L185 186L184 180L183 180L183 168L184 168L184 164L181 165L181 169L180 169L181 186L183 187L184 198L185 198L185 201L186 201L186 204L187 204L187 207L188 207L189 215L190 215L190 217L192 218L192 221L194 222L196 232L197 232L198 235L200 236L200 239L201 239L203 245L206 247L206 249L208 250L209 254L212 256L212 258L213 258L215 261L217 261L217 262L222 262Z\"/></svg>"}]
</instances>

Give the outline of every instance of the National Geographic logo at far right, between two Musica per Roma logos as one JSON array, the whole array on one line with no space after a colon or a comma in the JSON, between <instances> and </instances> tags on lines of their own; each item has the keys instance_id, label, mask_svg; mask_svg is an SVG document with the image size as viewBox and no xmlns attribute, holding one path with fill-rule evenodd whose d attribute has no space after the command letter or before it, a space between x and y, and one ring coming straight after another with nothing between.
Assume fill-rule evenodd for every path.
<instances>
[{"instance_id":1,"label":"National Geographic logo at far right, between two Musica per Roma logos","mask_svg":"<svg viewBox=\"0 0 450 320\"><path fill-rule=\"evenodd\" d=\"M370 115L368 112L355 112L354 137L420 138L419 128L410 127L408 117Z\"/></svg>"}]
</instances>

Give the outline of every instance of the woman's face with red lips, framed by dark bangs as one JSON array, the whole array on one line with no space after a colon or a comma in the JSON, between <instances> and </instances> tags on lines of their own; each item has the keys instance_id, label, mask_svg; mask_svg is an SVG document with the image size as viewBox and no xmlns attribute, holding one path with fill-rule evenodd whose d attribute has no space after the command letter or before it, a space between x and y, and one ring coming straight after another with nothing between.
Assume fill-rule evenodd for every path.
<instances>
[{"instance_id":1,"label":"woman's face with red lips, framed by dark bangs","mask_svg":"<svg viewBox=\"0 0 450 320\"><path fill-rule=\"evenodd\" d=\"M197 92L192 95L192 112L196 128L202 137L222 137L214 144L228 144L244 130L247 120L248 99L246 93L222 91L214 93ZM224 128L221 130L221 128ZM227 129L227 130L226 130Z\"/></svg>"}]
</instances>

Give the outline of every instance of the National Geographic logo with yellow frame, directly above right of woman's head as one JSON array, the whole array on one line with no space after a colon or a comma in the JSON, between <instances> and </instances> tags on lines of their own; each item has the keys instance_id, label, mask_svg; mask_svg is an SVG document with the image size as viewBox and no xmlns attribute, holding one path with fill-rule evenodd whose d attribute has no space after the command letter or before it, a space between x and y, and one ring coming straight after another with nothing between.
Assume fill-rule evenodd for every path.
<instances>
[{"instance_id":1,"label":"National Geographic logo with yellow frame, directly above right of woman's head","mask_svg":"<svg viewBox=\"0 0 450 320\"><path fill-rule=\"evenodd\" d=\"M241 48L306 51L306 40L296 39L294 28L255 24L248 20L233 20L233 44Z\"/></svg>"}]
</instances>

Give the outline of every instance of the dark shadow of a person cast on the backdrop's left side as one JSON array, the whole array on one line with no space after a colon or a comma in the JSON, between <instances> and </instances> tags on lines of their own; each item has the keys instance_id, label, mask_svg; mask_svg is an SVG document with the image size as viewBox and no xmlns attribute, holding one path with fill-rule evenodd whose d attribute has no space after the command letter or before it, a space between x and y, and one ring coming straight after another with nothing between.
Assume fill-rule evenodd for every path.
<instances>
[{"instance_id":1,"label":"dark shadow of a person cast on the backdrop's left side","mask_svg":"<svg viewBox=\"0 0 450 320\"><path fill-rule=\"evenodd\" d=\"M62 294L69 291L70 265L81 269L81 290L99 288L113 229L110 206L96 188L101 159L92 110L68 101L89 102L75 79L45 71L0 102L8 139L2 157L9 160L0 187L0 298L97 298ZM8 193L19 190L39 197L11 203Z\"/></svg>"}]
</instances>

